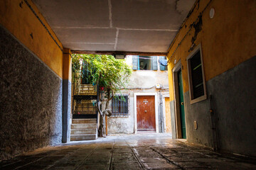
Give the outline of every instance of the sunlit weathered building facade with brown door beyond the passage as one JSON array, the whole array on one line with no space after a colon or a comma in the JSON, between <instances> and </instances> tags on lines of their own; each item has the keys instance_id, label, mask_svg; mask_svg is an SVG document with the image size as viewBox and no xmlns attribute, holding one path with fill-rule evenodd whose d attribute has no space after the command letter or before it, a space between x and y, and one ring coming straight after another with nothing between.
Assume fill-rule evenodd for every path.
<instances>
[{"instance_id":1,"label":"sunlit weathered building facade with brown door beyond the passage","mask_svg":"<svg viewBox=\"0 0 256 170\"><path fill-rule=\"evenodd\" d=\"M114 113L107 118L109 135L171 132L171 120L168 117L170 112L165 111L165 100L167 100L166 104L169 103L168 72L165 67L160 66L159 58L161 57L127 56L126 62L133 68L132 77L129 84L117 94L126 96L127 106L125 106L126 102L112 100ZM145 63L147 63L146 67ZM137 108L139 106L145 107L139 109ZM120 109L118 111L118 107L124 111ZM144 125L139 124L142 121ZM169 129L166 130L166 127Z\"/></svg>"}]
</instances>

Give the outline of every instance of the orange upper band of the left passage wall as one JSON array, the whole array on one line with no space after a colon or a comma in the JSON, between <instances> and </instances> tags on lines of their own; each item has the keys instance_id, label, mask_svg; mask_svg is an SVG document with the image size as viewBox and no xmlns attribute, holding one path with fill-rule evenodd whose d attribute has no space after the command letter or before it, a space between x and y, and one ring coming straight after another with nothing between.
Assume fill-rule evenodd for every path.
<instances>
[{"instance_id":1,"label":"orange upper band of the left passage wall","mask_svg":"<svg viewBox=\"0 0 256 170\"><path fill-rule=\"evenodd\" d=\"M20 6L20 3L23 2ZM38 8L31 0L28 0L32 8L36 11L43 23L47 26L50 33L61 48L61 42L50 29L48 23L43 18ZM26 45L44 63L53 69L53 72L63 77L63 52L58 48L46 29L38 21L25 1L20 0L1 0L0 1L0 24L9 30L23 45ZM31 38L31 33L33 38Z\"/></svg>"}]
</instances>

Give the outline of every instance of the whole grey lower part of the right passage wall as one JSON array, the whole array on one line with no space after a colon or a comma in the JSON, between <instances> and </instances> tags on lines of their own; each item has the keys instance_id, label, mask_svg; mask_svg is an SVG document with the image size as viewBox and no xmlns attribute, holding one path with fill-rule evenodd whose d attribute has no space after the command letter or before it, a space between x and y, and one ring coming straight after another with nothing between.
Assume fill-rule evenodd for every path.
<instances>
[{"instance_id":1,"label":"whole grey lower part of the right passage wall","mask_svg":"<svg viewBox=\"0 0 256 170\"><path fill-rule=\"evenodd\" d=\"M252 57L207 81L207 93L213 96L212 101L207 99L191 105L188 91L184 94L188 142L213 147L216 141L220 150L256 156L252 149L256 143L255 65L256 57ZM216 123L216 140L213 140L211 118ZM193 127L195 120L197 130Z\"/></svg>"}]
</instances>

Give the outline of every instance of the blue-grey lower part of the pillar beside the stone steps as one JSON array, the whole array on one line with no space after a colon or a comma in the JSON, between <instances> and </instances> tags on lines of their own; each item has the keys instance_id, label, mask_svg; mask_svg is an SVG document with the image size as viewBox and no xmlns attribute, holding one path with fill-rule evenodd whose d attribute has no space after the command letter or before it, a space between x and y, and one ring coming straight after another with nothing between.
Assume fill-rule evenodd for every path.
<instances>
[{"instance_id":1,"label":"blue-grey lower part of the pillar beside the stone steps","mask_svg":"<svg viewBox=\"0 0 256 170\"><path fill-rule=\"evenodd\" d=\"M63 136L62 142L70 142L71 82L63 79Z\"/></svg>"}]
</instances>

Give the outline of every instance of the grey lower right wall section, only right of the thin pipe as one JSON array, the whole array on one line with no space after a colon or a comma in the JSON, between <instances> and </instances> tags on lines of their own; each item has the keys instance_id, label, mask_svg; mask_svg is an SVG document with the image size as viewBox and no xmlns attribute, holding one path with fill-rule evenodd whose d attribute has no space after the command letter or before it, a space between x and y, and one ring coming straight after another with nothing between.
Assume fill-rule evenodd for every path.
<instances>
[{"instance_id":1,"label":"grey lower right wall section, only right of the thin pipe","mask_svg":"<svg viewBox=\"0 0 256 170\"><path fill-rule=\"evenodd\" d=\"M256 56L207 82L213 95L218 144L228 152L255 157Z\"/></svg>"}]
</instances>

